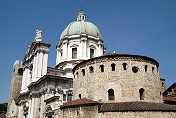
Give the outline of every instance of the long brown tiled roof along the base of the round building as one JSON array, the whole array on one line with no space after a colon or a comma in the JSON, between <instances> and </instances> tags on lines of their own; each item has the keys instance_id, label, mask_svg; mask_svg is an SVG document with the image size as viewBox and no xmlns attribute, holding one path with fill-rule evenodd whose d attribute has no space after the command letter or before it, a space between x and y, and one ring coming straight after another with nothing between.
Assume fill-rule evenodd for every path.
<instances>
[{"instance_id":1,"label":"long brown tiled roof along the base of the round building","mask_svg":"<svg viewBox=\"0 0 176 118\"><path fill-rule=\"evenodd\" d=\"M174 111L176 105L149 102L119 102L105 103L101 106L100 112L122 112L122 111Z\"/></svg>"}]
</instances>

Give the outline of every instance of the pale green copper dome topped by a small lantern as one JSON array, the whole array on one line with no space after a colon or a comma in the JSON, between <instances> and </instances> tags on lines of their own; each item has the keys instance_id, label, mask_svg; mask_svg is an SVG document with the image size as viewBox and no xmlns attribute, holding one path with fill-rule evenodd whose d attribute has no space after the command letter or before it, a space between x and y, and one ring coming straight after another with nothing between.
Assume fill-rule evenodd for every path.
<instances>
[{"instance_id":1,"label":"pale green copper dome topped by a small lantern","mask_svg":"<svg viewBox=\"0 0 176 118\"><path fill-rule=\"evenodd\" d=\"M77 21L70 23L67 28L62 32L60 39L63 39L66 35L74 34L88 34L94 37L101 38L98 28L91 22L85 20L86 15L81 10L78 13Z\"/></svg>"}]
</instances>

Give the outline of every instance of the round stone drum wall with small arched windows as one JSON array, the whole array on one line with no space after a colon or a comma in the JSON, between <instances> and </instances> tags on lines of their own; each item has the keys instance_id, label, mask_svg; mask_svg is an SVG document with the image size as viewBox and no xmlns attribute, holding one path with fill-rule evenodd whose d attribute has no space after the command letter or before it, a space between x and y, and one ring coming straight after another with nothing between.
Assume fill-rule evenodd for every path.
<instances>
[{"instance_id":1,"label":"round stone drum wall with small arched windows","mask_svg":"<svg viewBox=\"0 0 176 118\"><path fill-rule=\"evenodd\" d=\"M115 65L114 71L112 64ZM137 67L138 72L133 72L133 67ZM141 101L139 90L143 88L142 101L162 102L158 63L150 58L118 54L102 56L78 64L74 76L74 99L78 99L80 94L82 98L101 102ZM110 89L114 90L114 100L108 98Z\"/></svg>"}]
</instances>

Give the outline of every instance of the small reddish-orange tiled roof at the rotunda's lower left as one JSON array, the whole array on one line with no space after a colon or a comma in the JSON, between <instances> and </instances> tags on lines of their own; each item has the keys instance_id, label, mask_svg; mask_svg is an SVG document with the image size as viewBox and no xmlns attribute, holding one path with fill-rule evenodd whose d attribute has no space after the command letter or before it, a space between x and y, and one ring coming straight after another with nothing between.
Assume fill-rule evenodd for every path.
<instances>
[{"instance_id":1,"label":"small reddish-orange tiled roof at the rotunda's lower left","mask_svg":"<svg viewBox=\"0 0 176 118\"><path fill-rule=\"evenodd\" d=\"M77 99L77 100L73 100L73 101L70 101L70 102L66 102L66 103L63 104L62 108L73 107L73 106L82 106L82 105L96 105L96 104L99 104L99 102L89 100L89 99L86 99L86 98L82 98L82 99Z\"/></svg>"}]
</instances>

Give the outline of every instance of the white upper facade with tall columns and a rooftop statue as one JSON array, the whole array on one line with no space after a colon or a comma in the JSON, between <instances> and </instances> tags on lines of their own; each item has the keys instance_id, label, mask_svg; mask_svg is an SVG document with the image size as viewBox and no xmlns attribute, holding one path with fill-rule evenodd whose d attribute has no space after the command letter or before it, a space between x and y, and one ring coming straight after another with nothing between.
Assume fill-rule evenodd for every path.
<instances>
[{"instance_id":1,"label":"white upper facade with tall columns and a rooftop statue","mask_svg":"<svg viewBox=\"0 0 176 118\"><path fill-rule=\"evenodd\" d=\"M27 86L47 72L49 47L51 44L42 41L42 31L36 30L35 41L31 43L23 59L24 72L21 93L27 92Z\"/></svg>"}]
</instances>

